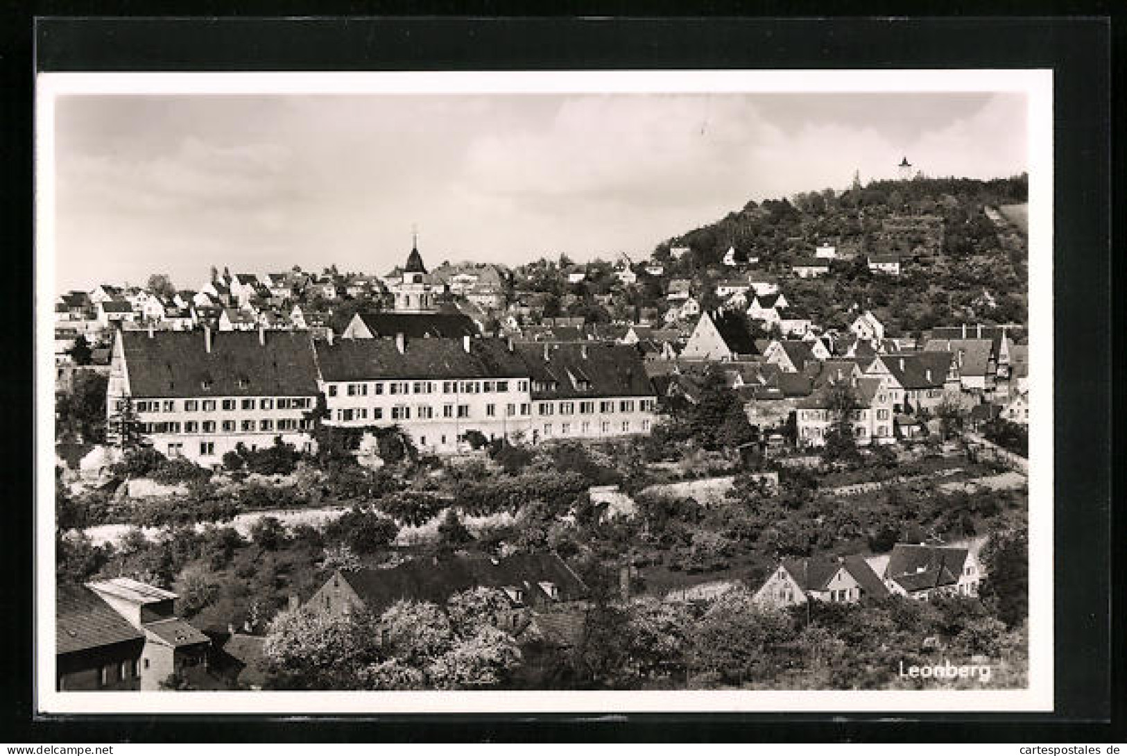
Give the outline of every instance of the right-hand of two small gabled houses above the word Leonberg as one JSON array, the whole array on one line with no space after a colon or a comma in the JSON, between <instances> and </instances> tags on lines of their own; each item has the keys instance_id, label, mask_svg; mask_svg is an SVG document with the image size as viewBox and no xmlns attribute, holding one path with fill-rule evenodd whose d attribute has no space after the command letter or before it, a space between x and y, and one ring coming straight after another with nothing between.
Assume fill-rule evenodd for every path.
<instances>
[{"instance_id":1,"label":"right-hand of two small gabled houses above the word Leonberg","mask_svg":"<svg viewBox=\"0 0 1127 756\"><path fill-rule=\"evenodd\" d=\"M923 601L940 594L977 596L985 577L971 550L922 543L897 543L877 573L890 594Z\"/></svg>"}]
</instances>

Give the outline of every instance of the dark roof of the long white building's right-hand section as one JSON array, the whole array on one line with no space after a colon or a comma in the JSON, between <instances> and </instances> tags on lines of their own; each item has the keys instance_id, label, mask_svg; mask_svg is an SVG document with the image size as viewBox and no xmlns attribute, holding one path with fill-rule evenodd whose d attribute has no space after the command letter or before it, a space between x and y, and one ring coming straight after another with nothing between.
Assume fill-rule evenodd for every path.
<instances>
[{"instance_id":1,"label":"dark roof of the long white building's right-hand section","mask_svg":"<svg viewBox=\"0 0 1127 756\"><path fill-rule=\"evenodd\" d=\"M533 399L655 395L641 355L628 344L517 344L516 352Z\"/></svg>"}]
</instances>

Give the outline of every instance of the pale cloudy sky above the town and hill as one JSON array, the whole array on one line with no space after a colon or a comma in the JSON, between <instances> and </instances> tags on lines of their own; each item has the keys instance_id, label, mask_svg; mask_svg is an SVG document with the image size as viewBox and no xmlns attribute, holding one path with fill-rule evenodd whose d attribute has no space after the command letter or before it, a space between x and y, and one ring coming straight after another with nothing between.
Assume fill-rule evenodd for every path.
<instances>
[{"instance_id":1,"label":"pale cloudy sky above the town and hill","mask_svg":"<svg viewBox=\"0 0 1127 756\"><path fill-rule=\"evenodd\" d=\"M1020 94L65 95L56 285L644 257L749 199L1027 170Z\"/></svg>"}]
</instances>

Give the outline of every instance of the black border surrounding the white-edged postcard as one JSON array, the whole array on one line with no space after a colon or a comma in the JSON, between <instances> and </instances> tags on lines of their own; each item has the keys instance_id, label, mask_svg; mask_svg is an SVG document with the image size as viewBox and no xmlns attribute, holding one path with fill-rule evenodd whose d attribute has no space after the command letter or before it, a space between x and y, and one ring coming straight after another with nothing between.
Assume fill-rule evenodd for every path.
<instances>
[{"instance_id":1,"label":"black border surrounding the white-edged postcard","mask_svg":"<svg viewBox=\"0 0 1127 756\"><path fill-rule=\"evenodd\" d=\"M79 3L41 10L82 14ZM125 14L149 10L122 2ZM269 10L294 12L293 3ZM332 8L329 6L343 6ZM327 3L319 12L355 11ZM923 3L926 6L929 3ZM995 5L999 12L1014 9ZM204 6L204 7L201 7ZM230 12L205 2L189 12ZM802 6L799 6L800 8ZM935 6L938 7L938 3ZM1053 6L1049 6L1053 8ZM980 6L975 7L976 10ZM1028 6L1021 10L1028 9ZM435 8L440 14L449 7ZM491 10L489 8L488 10ZM573 9L583 10L583 9ZM1111 39L1110 18L743 18L717 17L715 3L681 18L318 18L46 17L0 32L6 55L8 124L2 185L6 212L26 207L9 228L14 249L6 282L12 314L32 311L32 90L36 62L48 70L569 70L772 68L1051 68L1055 78L1056 304L1056 687L1057 711L1037 713L628 714L596 715L337 715L300 727L281 717L99 715L37 719L32 685L30 579L0 585L9 648L0 659L12 740L353 741L429 740L895 740L1002 741L1122 739L1122 656L1112 656L1111 533ZM780 10L780 8L767 10ZM956 9L957 10L957 9ZM1059 10L1059 9L1057 9ZM1104 12L1098 8L1098 12ZM310 8L301 9L309 12ZM150 11L151 12L151 11ZM871 11L870 11L871 12ZM1028 12L1028 11L1027 11ZM34 37L33 37L34 32ZM1117 32L1113 34L1113 32ZM33 55L34 43L34 55ZM15 63L15 65L12 65ZM1122 60L1116 61L1122 72ZM12 110L14 108L9 108ZM1122 113L1118 114L1122 128ZM1121 158L1121 154L1117 155ZM1121 161L1119 163L1121 166ZM20 201L27 202L23 205ZM21 243L26 242L26 243ZM26 250L26 251L25 251ZM26 276L26 278L24 277ZM9 354L29 329L0 332ZM32 427L33 401L20 389L28 363L8 364L2 385L12 419ZM24 370L20 370L24 368ZM1094 419L1093 419L1094 418ZM1107 421L1103 418L1108 418ZM30 434L29 434L30 436ZM10 470L33 470L25 438L3 438ZM26 464L21 464L25 463ZM1121 473L1120 473L1121 474ZM28 489L32 481L28 480ZM12 501L9 533L32 526L32 491ZM23 505L23 506L19 506ZM8 572L30 578L30 544L10 539ZM1118 541L1121 543L1121 541ZM1121 552L1119 554L1121 558ZM1118 577L1122 578L1120 559ZM1121 584L1120 584L1121 585ZM1122 594L1119 594L1122 595ZM17 617L19 617L17 620ZM15 624L15 626L12 626ZM1118 628L1121 638L1121 625ZM1122 649L1120 642L1116 650ZM1115 679L1112 679L1112 674ZM1115 683L1115 687L1112 684ZM1112 691L1118 691L1112 696ZM884 721L878 721L882 719ZM206 729L199 723L206 721ZM327 727L326 727L327 726Z\"/></svg>"}]
</instances>

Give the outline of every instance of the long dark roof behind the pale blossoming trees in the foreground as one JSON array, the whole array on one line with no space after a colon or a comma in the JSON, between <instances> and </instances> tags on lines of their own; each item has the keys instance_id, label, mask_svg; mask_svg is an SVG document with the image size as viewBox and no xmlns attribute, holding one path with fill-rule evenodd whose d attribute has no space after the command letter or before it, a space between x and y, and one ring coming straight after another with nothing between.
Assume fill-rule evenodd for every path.
<instances>
[{"instance_id":1,"label":"long dark roof behind the pale blossoming trees in the foreground","mask_svg":"<svg viewBox=\"0 0 1127 756\"><path fill-rule=\"evenodd\" d=\"M556 584L564 596L578 598L587 586L556 554L512 554L491 559L480 554L449 559L412 559L390 569L341 572L371 612L382 612L400 599L444 604L456 593L472 588L520 587L540 593L540 582Z\"/></svg>"}]
</instances>

